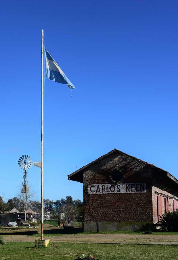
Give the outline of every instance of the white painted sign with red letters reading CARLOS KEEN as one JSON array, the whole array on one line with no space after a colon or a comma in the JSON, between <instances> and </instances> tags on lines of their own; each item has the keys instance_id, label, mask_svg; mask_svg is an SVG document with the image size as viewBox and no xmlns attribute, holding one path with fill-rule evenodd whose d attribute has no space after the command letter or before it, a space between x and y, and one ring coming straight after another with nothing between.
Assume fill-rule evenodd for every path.
<instances>
[{"instance_id":1,"label":"white painted sign with red letters reading CARLOS KEEN","mask_svg":"<svg viewBox=\"0 0 178 260\"><path fill-rule=\"evenodd\" d=\"M146 183L90 184L89 194L146 193Z\"/></svg>"}]
</instances>

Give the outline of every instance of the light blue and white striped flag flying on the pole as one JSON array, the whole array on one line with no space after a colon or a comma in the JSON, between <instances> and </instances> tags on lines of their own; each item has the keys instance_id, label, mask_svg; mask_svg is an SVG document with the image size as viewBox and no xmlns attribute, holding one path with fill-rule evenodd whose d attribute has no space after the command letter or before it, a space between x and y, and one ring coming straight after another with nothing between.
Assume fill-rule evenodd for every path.
<instances>
[{"instance_id":1,"label":"light blue and white striped flag flying on the pole","mask_svg":"<svg viewBox=\"0 0 178 260\"><path fill-rule=\"evenodd\" d=\"M62 69L58 66L55 60L53 60L53 58L51 57L51 55L46 49L45 49L45 57L46 57L45 77L55 82L67 84L70 89L75 88L74 85L66 77Z\"/></svg>"}]
</instances>

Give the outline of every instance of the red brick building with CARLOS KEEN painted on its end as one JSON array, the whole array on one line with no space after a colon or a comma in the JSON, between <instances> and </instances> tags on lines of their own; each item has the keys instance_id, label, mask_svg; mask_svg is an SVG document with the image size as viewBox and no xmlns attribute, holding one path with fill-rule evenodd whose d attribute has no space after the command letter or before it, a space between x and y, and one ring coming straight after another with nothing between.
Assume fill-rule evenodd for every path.
<instances>
[{"instance_id":1,"label":"red brick building with CARLOS KEEN painted on its end","mask_svg":"<svg viewBox=\"0 0 178 260\"><path fill-rule=\"evenodd\" d=\"M138 230L178 208L178 180L114 149L68 175L83 183L84 231ZM98 223L97 223L98 222Z\"/></svg>"}]
</instances>

